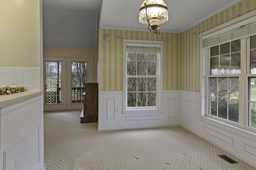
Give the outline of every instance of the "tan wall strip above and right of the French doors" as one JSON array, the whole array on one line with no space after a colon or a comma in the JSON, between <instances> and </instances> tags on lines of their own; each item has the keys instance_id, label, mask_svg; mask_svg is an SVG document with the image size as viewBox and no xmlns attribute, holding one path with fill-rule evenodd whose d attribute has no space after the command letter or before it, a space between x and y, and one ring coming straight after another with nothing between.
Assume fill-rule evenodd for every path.
<instances>
[{"instance_id":1,"label":"tan wall strip above and right of the French doors","mask_svg":"<svg viewBox=\"0 0 256 170\"><path fill-rule=\"evenodd\" d=\"M43 55L58 56L93 56L93 81L97 82L97 51L96 49L51 48L44 47Z\"/></svg>"}]
</instances>

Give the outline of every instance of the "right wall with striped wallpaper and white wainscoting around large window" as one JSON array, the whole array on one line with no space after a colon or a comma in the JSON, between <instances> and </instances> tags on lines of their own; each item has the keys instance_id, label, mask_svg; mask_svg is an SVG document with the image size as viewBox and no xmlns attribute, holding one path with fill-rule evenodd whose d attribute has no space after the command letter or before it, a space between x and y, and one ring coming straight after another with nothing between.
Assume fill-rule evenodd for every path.
<instances>
[{"instance_id":1,"label":"right wall with striped wallpaper and white wainscoting around large window","mask_svg":"<svg viewBox=\"0 0 256 170\"><path fill-rule=\"evenodd\" d=\"M256 9L255 0L242 2L220 12L181 34L181 120L182 127L256 167L256 135L238 127L202 117L204 98L200 75L200 33Z\"/></svg>"}]
</instances>

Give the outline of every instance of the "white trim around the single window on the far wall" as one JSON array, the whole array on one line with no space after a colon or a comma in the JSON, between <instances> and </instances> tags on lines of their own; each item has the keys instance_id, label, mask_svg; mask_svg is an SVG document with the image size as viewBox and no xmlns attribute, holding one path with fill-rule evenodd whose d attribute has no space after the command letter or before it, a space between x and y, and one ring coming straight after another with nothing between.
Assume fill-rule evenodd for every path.
<instances>
[{"instance_id":1,"label":"white trim around the single window on the far wall","mask_svg":"<svg viewBox=\"0 0 256 170\"><path fill-rule=\"evenodd\" d=\"M158 88L158 101L157 106L158 108L147 108L147 109L128 109L126 107L126 100L127 100L127 87L126 87L126 46L127 43L136 43L136 44L158 44L160 45L160 67L159 67L159 88ZM154 45L153 45L154 46ZM128 113L160 113L164 112L163 110L163 50L164 41L148 41L148 40L132 40L132 39L124 39L123 40L123 111L122 114Z\"/></svg>"}]
</instances>

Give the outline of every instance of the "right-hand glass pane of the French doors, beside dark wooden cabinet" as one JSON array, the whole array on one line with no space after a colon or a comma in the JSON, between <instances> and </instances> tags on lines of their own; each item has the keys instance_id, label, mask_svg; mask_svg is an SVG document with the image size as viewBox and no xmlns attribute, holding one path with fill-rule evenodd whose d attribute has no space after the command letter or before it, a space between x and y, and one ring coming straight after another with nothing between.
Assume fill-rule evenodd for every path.
<instances>
[{"instance_id":1,"label":"right-hand glass pane of the French doors, beside dark wooden cabinet","mask_svg":"<svg viewBox=\"0 0 256 170\"><path fill-rule=\"evenodd\" d=\"M86 82L86 62L72 62L72 90L71 102L83 103L82 94L85 92L84 83Z\"/></svg>"}]
</instances>

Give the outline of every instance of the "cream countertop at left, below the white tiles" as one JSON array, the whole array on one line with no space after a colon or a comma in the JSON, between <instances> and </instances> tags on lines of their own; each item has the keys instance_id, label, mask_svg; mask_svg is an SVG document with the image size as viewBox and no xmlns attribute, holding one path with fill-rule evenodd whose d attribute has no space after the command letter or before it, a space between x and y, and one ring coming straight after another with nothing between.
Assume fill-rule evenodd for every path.
<instances>
[{"instance_id":1,"label":"cream countertop at left, below the white tiles","mask_svg":"<svg viewBox=\"0 0 256 170\"><path fill-rule=\"evenodd\" d=\"M43 94L43 91L28 90L20 93L0 95L0 107L8 106Z\"/></svg>"}]
</instances>

